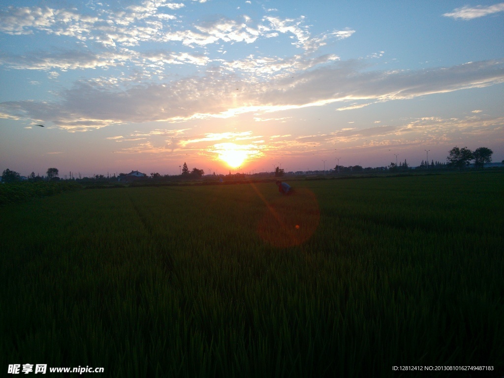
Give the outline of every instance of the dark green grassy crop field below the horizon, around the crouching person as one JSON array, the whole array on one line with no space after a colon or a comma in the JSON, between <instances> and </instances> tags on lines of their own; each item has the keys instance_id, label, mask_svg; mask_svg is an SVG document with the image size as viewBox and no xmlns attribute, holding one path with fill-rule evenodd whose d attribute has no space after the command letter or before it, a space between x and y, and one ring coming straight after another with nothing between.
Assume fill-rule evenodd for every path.
<instances>
[{"instance_id":1,"label":"dark green grassy crop field below the horizon, around the crouching person","mask_svg":"<svg viewBox=\"0 0 504 378\"><path fill-rule=\"evenodd\" d=\"M388 377L415 376L393 365L485 365L500 376L503 184L501 172L468 172L296 181L291 197L256 183L4 206L3 366Z\"/></svg>"}]
</instances>

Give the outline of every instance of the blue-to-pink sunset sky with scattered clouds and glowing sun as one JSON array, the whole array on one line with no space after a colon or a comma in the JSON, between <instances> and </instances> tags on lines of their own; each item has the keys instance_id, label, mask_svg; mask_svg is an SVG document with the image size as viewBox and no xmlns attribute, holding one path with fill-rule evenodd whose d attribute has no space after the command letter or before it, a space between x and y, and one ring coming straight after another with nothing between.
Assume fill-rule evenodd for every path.
<instances>
[{"instance_id":1,"label":"blue-to-pink sunset sky with scattered clouds and glowing sun","mask_svg":"<svg viewBox=\"0 0 504 378\"><path fill-rule=\"evenodd\" d=\"M468 1L0 0L0 170L500 162L504 3Z\"/></svg>"}]
</instances>

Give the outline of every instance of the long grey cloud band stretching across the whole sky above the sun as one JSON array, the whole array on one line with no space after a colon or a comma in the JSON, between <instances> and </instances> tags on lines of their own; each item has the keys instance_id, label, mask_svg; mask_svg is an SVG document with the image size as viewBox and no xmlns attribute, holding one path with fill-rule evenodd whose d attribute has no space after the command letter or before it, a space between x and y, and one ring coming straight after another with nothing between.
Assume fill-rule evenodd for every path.
<instances>
[{"instance_id":1,"label":"long grey cloud band stretching across the whole sky above the sun","mask_svg":"<svg viewBox=\"0 0 504 378\"><path fill-rule=\"evenodd\" d=\"M353 63L334 62L293 79L280 75L265 82L245 82L219 69L171 83L131 85L127 89L82 81L59 92L59 101L4 102L0 103L0 112L53 121L69 129L77 124L100 128L121 122L227 118L333 102L391 101L504 82L504 61L500 60L404 72L360 71L361 66ZM361 105L354 103L350 108Z\"/></svg>"}]
</instances>

